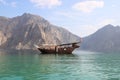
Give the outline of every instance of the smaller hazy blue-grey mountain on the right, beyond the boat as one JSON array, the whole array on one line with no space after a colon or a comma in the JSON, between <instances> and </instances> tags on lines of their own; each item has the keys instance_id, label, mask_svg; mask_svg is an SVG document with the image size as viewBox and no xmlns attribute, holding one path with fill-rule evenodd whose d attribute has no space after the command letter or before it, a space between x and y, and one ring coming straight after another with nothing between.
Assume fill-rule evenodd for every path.
<instances>
[{"instance_id":1,"label":"smaller hazy blue-grey mountain on the right, beyond the boat","mask_svg":"<svg viewBox=\"0 0 120 80\"><path fill-rule=\"evenodd\" d=\"M120 26L106 25L83 38L81 49L99 52L120 52Z\"/></svg>"}]
</instances>

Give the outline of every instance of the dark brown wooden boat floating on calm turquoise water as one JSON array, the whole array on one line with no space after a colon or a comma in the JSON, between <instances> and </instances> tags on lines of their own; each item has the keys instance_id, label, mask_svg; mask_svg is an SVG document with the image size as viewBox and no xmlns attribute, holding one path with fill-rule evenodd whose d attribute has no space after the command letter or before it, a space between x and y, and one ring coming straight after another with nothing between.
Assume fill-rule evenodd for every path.
<instances>
[{"instance_id":1,"label":"dark brown wooden boat floating on calm turquoise water","mask_svg":"<svg viewBox=\"0 0 120 80\"><path fill-rule=\"evenodd\" d=\"M80 42L74 42L60 45L42 44L41 46L35 46L42 54L72 54L74 49L80 47L77 45L79 43Z\"/></svg>"}]
</instances>

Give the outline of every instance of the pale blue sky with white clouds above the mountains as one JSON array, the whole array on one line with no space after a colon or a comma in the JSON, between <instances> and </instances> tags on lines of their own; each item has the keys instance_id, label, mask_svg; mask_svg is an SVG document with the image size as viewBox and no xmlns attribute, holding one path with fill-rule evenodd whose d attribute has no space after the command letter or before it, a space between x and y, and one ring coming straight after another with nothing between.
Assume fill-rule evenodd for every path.
<instances>
[{"instance_id":1,"label":"pale blue sky with white clouds above the mountains","mask_svg":"<svg viewBox=\"0 0 120 80\"><path fill-rule=\"evenodd\" d=\"M107 24L120 25L120 0L0 0L0 16L42 16L78 36Z\"/></svg>"}]
</instances>

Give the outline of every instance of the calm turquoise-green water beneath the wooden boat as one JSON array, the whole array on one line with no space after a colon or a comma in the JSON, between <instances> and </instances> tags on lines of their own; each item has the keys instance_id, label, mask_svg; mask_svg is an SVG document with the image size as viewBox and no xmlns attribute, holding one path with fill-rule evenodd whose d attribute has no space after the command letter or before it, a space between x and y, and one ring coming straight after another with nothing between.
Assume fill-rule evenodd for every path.
<instances>
[{"instance_id":1,"label":"calm turquoise-green water beneath the wooden boat","mask_svg":"<svg viewBox=\"0 0 120 80\"><path fill-rule=\"evenodd\" d=\"M120 80L120 53L0 52L0 80Z\"/></svg>"}]
</instances>

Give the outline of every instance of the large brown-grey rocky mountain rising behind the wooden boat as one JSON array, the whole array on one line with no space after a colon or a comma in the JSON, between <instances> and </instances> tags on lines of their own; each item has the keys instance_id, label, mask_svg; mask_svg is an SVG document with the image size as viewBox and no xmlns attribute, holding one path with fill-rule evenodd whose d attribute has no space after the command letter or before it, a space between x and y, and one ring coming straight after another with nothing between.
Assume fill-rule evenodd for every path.
<instances>
[{"instance_id":1,"label":"large brown-grey rocky mountain rising behind the wooden boat","mask_svg":"<svg viewBox=\"0 0 120 80\"><path fill-rule=\"evenodd\" d=\"M24 13L13 18L0 17L0 47L4 49L34 49L34 44L60 44L79 39L38 15Z\"/></svg>"}]
</instances>

